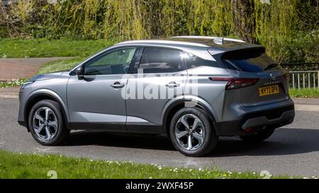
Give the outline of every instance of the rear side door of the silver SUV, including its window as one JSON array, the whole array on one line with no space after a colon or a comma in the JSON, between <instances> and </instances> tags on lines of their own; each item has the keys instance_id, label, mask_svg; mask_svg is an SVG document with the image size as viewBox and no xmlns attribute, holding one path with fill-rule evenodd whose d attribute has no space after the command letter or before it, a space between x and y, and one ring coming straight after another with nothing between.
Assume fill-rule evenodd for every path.
<instances>
[{"instance_id":1,"label":"rear side door of the silver SUV, including its window","mask_svg":"<svg viewBox=\"0 0 319 193\"><path fill-rule=\"evenodd\" d=\"M183 95L186 79L180 50L145 47L138 72L130 76L126 87L128 131L161 133L164 105Z\"/></svg>"}]
</instances>

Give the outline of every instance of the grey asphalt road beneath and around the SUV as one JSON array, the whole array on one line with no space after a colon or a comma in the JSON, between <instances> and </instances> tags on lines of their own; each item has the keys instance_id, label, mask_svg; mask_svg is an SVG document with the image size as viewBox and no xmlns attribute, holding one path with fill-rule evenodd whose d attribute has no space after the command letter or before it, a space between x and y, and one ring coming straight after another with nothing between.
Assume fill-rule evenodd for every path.
<instances>
[{"instance_id":1,"label":"grey asphalt road beneath and around the SUV","mask_svg":"<svg viewBox=\"0 0 319 193\"><path fill-rule=\"evenodd\" d=\"M256 172L268 170L274 175L318 177L319 109L304 104L296 108L293 124L277 129L262 144L245 144L235 137L220 138L215 153L206 158L188 158L175 151L163 136L121 136L76 131L72 132L63 146L40 146L16 122L18 99L0 98L0 148L176 167Z\"/></svg>"}]
</instances>

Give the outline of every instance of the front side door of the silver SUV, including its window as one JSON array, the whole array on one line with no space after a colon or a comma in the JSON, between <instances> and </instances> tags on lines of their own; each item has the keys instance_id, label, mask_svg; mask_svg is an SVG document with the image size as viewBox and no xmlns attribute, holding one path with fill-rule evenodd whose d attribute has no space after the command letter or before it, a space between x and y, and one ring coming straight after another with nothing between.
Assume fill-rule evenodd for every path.
<instances>
[{"instance_id":1,"label":"front side door of the silver SUV, including its window","mask_svg":"<svg viewBox=\"0 0 319 193\"><path fill-rule=\"evenodd\" d=\"M84 76L67 84L69 119L74 129L126 131L125 92L136 47L101 54L83 66Z\"/></svg>"}]
</instances>

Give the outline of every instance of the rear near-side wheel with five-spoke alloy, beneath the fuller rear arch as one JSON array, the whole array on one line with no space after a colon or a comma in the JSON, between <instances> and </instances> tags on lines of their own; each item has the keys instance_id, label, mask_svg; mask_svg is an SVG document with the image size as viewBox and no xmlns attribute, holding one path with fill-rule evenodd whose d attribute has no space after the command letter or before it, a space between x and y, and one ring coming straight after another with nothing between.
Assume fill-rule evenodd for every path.
<instances>
[{"instance_id":1,"label":"rear near-side wheel with five-spoke alloy, beneath the fuller rear arch","mask_svg":"<svg viewBox=\"0 0 319 193\"><path fill-rule=\"evenodd\" d=\"M179 152L193 157L211 153L218 141L207 113L196 107L184 107L174 115L169 136Z\"/></svg>"}]
</instances>

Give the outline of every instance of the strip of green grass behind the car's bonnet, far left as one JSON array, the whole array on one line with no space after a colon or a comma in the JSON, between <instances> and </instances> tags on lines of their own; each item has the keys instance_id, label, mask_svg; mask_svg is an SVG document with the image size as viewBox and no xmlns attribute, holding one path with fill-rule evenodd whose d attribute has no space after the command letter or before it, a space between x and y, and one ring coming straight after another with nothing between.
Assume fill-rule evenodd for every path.
<instances>
[{"instance_id":1,"label":"strip of green grass behind the car's bonnet, far left","mask_svg":"<svg viewBox=\"0 0 319 193\"><path fill-rule=\"evenodd\" d=\"M87 57L113 45L106 40L0 39L0 58Z\"/></svg>"}]
</instances>

